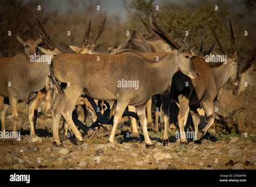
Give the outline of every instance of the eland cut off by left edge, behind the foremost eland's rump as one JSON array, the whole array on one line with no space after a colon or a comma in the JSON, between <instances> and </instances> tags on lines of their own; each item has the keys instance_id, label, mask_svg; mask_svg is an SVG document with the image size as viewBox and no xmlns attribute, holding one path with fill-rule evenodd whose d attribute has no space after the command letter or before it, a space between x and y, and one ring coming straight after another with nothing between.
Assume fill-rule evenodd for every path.
<instances>
[{"instance_id":1,"label":"eland cut off by left edge, behind the foremost eland's rump","mask_svg":"<svg viewBox=\"0 0 256 187\"><path fill-rule=\"evenodd\" d=\"M28 23L32 25L29 21ZM42 26L39 20L38 23ZM45 30L43 32L46 33ZM48 46L51 51L44 51L37 46L41 52L51 57L60 54L48 35L46 40L47 44L51 44ZM28 104L30 135L35 135L34 110L38 92L45 88L46 78L50 73L48 63L48 61L31 61L25 53L18 53L14 57L0 57L0 96L4 97L2 113L6 113L10 105L14 120L13 131L16 131L18 119L17 104ZM5 131L4 123L2 123L2 131Z\"/></svg>"}]
</instances>

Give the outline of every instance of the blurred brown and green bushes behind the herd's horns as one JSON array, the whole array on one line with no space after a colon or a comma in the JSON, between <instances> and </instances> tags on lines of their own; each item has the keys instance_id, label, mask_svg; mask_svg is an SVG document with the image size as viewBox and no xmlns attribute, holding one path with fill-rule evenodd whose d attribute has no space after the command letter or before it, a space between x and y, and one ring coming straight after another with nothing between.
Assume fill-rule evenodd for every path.
<instances>
[{"instance_id":1,"label":"blurred brown and green bushes behind the herd's horns","mask_svg":"<svg viewBox=\"0 0 256 187\"><path fill-rule=\"evenodd\" d=\"M38 10L38 5L41 10ZM100 11L96 10L97 5ZM215 5L218 10L215 10ZM159 6L159 10L156 10L156 6ZM207 20L231 55L228 23L231 19L239 59L244 61L255 47L255 6L256 2L250 0L3 0L0 2L0 55L12 56L23 50L17 35L24 40L38 38L25 22L28 19L37 25L36 16L42 20L46 31L62 52L71 52L69 45L82 45L90 18L93 36L107 16L104 32L96 44L98 52L106 53L107 47L117 46L124 41L127 38L126 31L138 30L146 38L153 39L141 23L141 20L149 23L152 19L181 45L186 43L187 48L198 53L200 41L203 40L204 50L207 51L215 42L205 23ZM11 36L8 36L8 31L11 31ZM70 36L67 35L68 31ZM247 36L245 31L248 32ZM217 45L214 50L221 53Z\"/></svg>"}]
</instances>

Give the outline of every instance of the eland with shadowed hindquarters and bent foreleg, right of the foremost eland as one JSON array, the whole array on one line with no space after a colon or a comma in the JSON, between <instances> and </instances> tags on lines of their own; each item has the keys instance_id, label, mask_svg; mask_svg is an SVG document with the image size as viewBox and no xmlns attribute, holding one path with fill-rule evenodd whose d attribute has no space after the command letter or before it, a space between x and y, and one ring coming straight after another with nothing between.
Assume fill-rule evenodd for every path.
<instances>
[{"instance_id":1,"label":"eland with shadowed hindquarters and bent foreleg, right of the foremost eland","mask_svg":"<svg viewBox=\"0 0 256 187\"><path fill-rule=\"evenodd\" d=\"M156 23L153 23L156 27L156 30L152 27L151 30L161 36L163 31L158 27ZM210 26L210 25L209 25ZM191 79L178 71L172 78L171 85L171 98L178 103L179 105L179 114L178 114L178 125L179 125L179 135L181 142L187 142L185 137L184 127L186 125L188 112L191 112L192 120L195 126L195 138L201 139L203 135L206 134L208 128L214 123L214 101L217 97L217 91L220 90L227 80L230 80L233 84L237 84L239 80L238 76L238 62L237 62L237 52L234 47L234 35L231 27L231 41L232 41L232 52L233 57L228 57L226 65L223 63L215 63L214 65L207 64L205 60L199 56L193 56L191 58L192 63L196 67L198 72L198 77ZM211 26L210 26L211 28ZM212 28L211 28L212 30ZM225 52L223 46L221 45L217 35L212 30L215 39L218 42L218 45L221 48L221 51ZM169 35L164 35L165 38L168 38L172 42L172 46L180 47L177 42L174 42ZM220 74L223 74L220 76ZM186 86L187 85L187 86ZM167 99L167 106L163 109L164 114L169 113L169 99ZM206 116L208 117L207 125L198 133L198 112L197 109L203 107ZM166 114L166 118L167 115ZM167 121L167 119L166 119ZM164 142L168 142L168 123L165 123L164 131Z\"/></svg>"}]
</instances>

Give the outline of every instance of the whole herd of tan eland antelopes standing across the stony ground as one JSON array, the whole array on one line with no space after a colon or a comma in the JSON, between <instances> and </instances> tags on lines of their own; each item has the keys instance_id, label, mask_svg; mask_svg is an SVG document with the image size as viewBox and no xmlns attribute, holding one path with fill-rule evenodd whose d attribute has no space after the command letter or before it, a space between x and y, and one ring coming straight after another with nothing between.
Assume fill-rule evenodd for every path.
<instances>
[{"instance_id":1,"label":"whole herd of tan eland antelopes standing across the stony ground","mask_svg":"<svg viewBox=\"0 0 256 187\"><path fill-rule=\"evenodd\" d=\"M194 140L203 139L214 124L214 103L218 102L221 90L228 81L236 86L233 91L235 95L246 89L245 83L252 86L255 84L252 62L256 51L252 52L239 71L231 21L232 55L227 54L214 28L206 22L221 52L226 56L225 63L206 62L205 57L196 55L186 45L178 44L161 30L155 21L152 24L143 22L142 25L144 24L158 40L147 40L139 31L133 31L117 47L109 47L109 53L102 54L96 52L95 48L96 41L104 30L106 18L91 42L90 20L82 47L70 45L75 53L62 53L53 44L39 19L37 21L41 31L27 22L38 34L39 39L24 41L17 36L18 42L24 46L25 53L0 57L2 132L5 131L4 119L9 107L13 120L12 131L17 131L17 104L22 103L28 105L30 135L36 135L37 108L45 98L46 113L52 116L53 143L57 146L62 145L58 132L61 119L65 135L69 127L69 131L76 136L76 143L83 142L83 136L76 124L78 120L74 120L78 115L78 105L82 105L84 119L86 121L90 114L93 118L91 123L100 118L99 113L103 114L106 107L111 109L110 143L115 142L118 125L125 116L125 110L129 110L132 133L139 132L137 118L142 126L146 147L154 147L148 129L153 124L152 99L156 99L161 110L155 113L154 131L158 131L158 118L163 114L163 143L168 143L169 118L176 117L180 142L186 143L185 125L190 116L194 125ZM47 49L39 47L42 43ZM30 56L39 54L38 49L40 54L43 54L41 56L50 57L50 62L31 62ZM137 88L134 88L134 85L137 85ZM101 111L96 111L95 106L99 106ZM178 114L175 115L173 110L176 108ZM207 124L200 130L199 109L203 109L207 119Z\"/></svg>"}]
</instances>

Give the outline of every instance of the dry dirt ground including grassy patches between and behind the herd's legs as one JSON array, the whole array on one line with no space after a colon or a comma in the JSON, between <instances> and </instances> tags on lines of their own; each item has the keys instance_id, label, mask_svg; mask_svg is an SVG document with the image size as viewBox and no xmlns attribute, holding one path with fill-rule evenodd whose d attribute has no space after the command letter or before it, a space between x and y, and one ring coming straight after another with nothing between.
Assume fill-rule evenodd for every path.
<instances>
[{"instance_id":1,"label":"dry dirt ground including grassy patches between and behind the herd's legs","mask_svg":"<svg viewBox=\"0 0 256 187\"><path fill-rule=\"evenodd\" d=\"M1 169L256 169L255 88L241 96L224 92L219 112L223 115L244 106L246 111L235 115L240 134L226 134L218 128L208 133L200 144L175 142L175 132L169 132L169 145L163 146L163 133L150 132L155 148L145 148L144 142L127 141L116 136L117 144L107 143L108 137L84 139L75 145L64 139L63 148L52 145L51 118L40 116L37 137L29 136L26 106L19 105L21 140L0 139ZM124 119L125 120L125 119ZM6 129L11 130L10 111ZM124 123L124 121L123 121ZM215 124L215 126L218 126ZM61 127L61 125L59 126ZM246 133L246 134L244 134Z\"/></svg>"}]
</instances>

